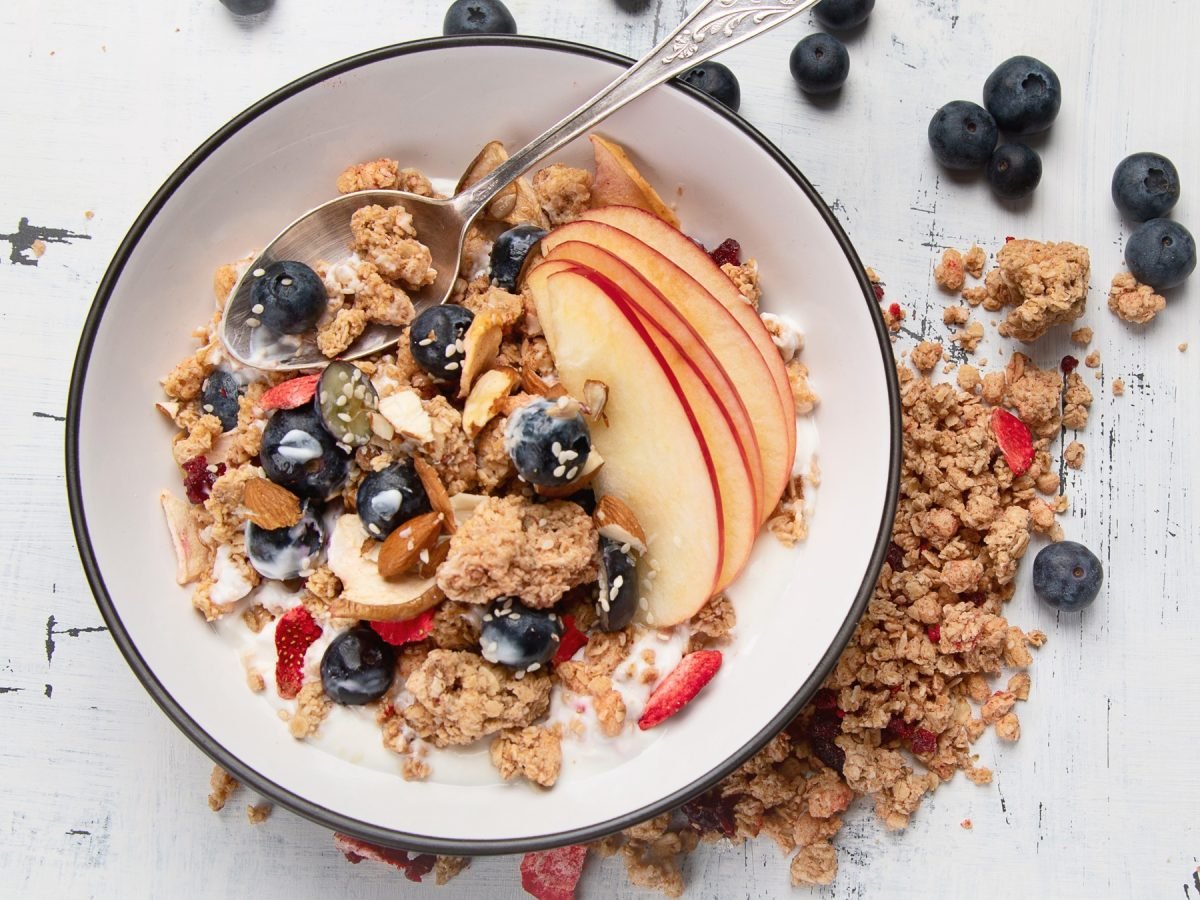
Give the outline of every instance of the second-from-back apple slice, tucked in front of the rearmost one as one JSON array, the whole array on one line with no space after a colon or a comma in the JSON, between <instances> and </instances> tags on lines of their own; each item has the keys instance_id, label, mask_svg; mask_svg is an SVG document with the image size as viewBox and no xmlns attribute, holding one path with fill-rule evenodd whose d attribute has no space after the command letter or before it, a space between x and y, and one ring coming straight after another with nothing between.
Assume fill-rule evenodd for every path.
<instances>
[{"instance_id":1,"label":"second-from-back apple slice, tucked in front of the rearmost one","mask_svg":"<svg viewBox=\"0 0 1200 900\"><path fill-rule=\"evenodd\" d=\"M685 244L698 251L698 247L679 232L666 230L679 235ZM556 228L542 238L542 247L547 254L553 256L558 247L569 241L590 244L618 257L672 305L708 346L712 355L737 388L754 424L763 473L760 522L764 521L775 509L792 476L792 460L796 454L796 403L792 400L792 389L787 380L787 371L784 370L782 358L754 310L744 301L738 301L739 306L749 312L750 319L767 335L774 362L784 372L784 385L787 390L786 409L775 388L770 365L763 360L756 344L746 336L736 314L713 298L684 269L630 233L590 218ZM707 259L707 254L701 253L701 256ZM708 262L712 263L710 259ZM720 269L716 272L726 282L730 281ZM730 287L733 287L732 282Z\"/></svg>"}]
</instances>

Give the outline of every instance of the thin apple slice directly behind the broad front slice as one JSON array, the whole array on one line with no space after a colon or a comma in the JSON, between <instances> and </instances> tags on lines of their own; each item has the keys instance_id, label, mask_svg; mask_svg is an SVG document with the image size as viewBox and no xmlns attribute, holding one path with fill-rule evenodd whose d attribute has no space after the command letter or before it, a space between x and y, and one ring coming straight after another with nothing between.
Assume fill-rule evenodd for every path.
<instances>
[{"instance_id":1,"label":"thin apple slice directly behind the broad front slice","mask_svg":"<svg viewBox=\"0 0 1200 900\"><path fill-rule=\"evenodd\" d=\"M662 319L656 322L650 318L634 299L634 295L637 294L647 302L653 302L652 288L616 257L595 247L581 247L581 254L586 256L586 251L593 251L595 262L606 268L605 272L589 269L574 260L552 259L530 274L529 289L536 298L539 292L546 289L546 281L558 272L576 271L583 274L589 281L604 289L608 299L620 308L622 314L634 324L638 336L652 346L659 361L674 376L677 386L683 392L684 402L700 424L701 436L708 448L716 474L716 490L720 496L724 526L721 535L724 550L721 571L713 590L721 590L742 571L750 557L750 551L754 550L755 538L758 533L758 494L757 486L751 478L751 464L758 463L754 442L751 439L751 446L748 451L745 444L739 439L738 424L734 424L722 404L721 397L704 380L695 361L689 359L686 352L672 337L672 332L686 332L688 323L661 298L658 299L658 313ZM610 272L616 278L620 278L620 282L610 278ZM691 349L697 353L707 353L698 338L694 340ZM737 392L731 386L727 386L726 391L733 402L739 402ZM745 416L744 410L743 416ZM750 434L752 438L752 431Z\"/></svg>"}]
</instances>

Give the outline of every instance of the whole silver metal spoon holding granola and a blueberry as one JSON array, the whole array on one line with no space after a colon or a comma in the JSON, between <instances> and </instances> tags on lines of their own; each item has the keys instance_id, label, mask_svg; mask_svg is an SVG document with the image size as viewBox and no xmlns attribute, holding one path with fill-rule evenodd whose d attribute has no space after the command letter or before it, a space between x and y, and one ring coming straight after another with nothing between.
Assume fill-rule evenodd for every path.
<instances>
[{"instance_id":1,"label":"whole silver metal spoon holding granola and a blueberry","mask_svg":"<svg viewBox=\"0 0 1200 900\"><path fill-rule=\"evenodd\" d=\"M431 199L404 191L360 191L310 210L266 246L234 287L221 323L221 340L234 359L256 368L295 370L328 362L312 335L266 334L253 311L251 286L257 277L254 272L278 260L336 260L344 257L350 245L350 216L360 206L370 204L403 204L412 214L418 240L430 248L438 272L433 284L412 295L413 302L418 308L445 302L458 275L467 228L505 187L650 88L757 37L817 2L706 0L607 88L455 197ZM341 359L378 353L394 346L403 334L403 328L372 324Z\"/></svg>"}]
</instances>

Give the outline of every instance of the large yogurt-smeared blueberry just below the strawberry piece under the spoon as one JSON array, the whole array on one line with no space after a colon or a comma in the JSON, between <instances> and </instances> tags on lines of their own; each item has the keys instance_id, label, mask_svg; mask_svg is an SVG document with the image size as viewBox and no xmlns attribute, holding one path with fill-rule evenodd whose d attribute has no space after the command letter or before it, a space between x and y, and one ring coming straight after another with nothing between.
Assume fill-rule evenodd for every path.
<instances>
[{"instance_id":1,"label":"large yogurt-smeared blueberry just below the strawberry piece under the spoon","mask_svg":"<svg viewBox=\"0 0 1200 900\"><path fill-rule=\"evenodd\" d=\"M263 430L259 457L271 481L318 500L337 493L349 469L347 455L311 404L275 412Z\"/></svg>"}]
</instances>

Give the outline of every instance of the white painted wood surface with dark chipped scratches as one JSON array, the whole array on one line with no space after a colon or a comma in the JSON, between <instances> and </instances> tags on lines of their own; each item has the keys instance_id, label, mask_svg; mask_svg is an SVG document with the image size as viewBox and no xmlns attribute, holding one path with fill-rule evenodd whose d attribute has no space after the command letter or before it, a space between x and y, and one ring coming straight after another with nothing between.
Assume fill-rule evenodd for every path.
<instances>
[{"instance_id":1,"label":"white painted wood surface with dark chipped scratches","mask_svg":"<svg viewBox=\"0 0 1200 900\"><path fill-rule=\"evenodd\" d=\"M636 5L636 4L634 4ZM527 34L638 55L689 0L510 0ZM217 0L0 4L0 894L5 896L433 895L384 866L347 865L328 832L282 811L252 828L251 799L205 806L209 763L155 708L103 634L71 538L62 475L65 397L95 287L137 211L175 164L262 95L319 65L440 31L442 2L278 0L238 22ZM1200 280L1133 329L1104 308L1127 230L1109 200L1114 164L1153 149L1182 170L1176 216L1200 230L1200 119L1189 4L881 0L848 38L851 78L833 101L793 88L787 54L805 17L725 60L743 113L809 174L888 283L906 326L947 336L931 271L943 246L995 250L1004 235L1091 247L1104 384L1094 383L1081 473L1066 472L1068 535L1108 566L1082 617L1028 589L1009 607L1050 643L1037 654L1024 738L979 745L995 784L958 779L900 834L860 804L838 840L823 898L1200 898ZM1015 53L1063 80L1058 122L1036 139L1045 178L1004 206L980 179L940 173L925 125L978 98ZM536 85L514 98L538 115ZM523 102L522 102L523 101ZM714 173L716 175L716 173ZM716 175L719 176L719 175ZM85 217L94 210L95 217ZM34 259L19 222L62 229ZM7 244L4 241L8 241ZM11 253L8 252L11 250ZM170 286L163 286L169 296ZM905 342L911 341L911 336ZM1176 346L1192 341L1181 353ZM901 344L904 346L904 343ZM979 355L1001 366L1012 348ZM1034 355L1055 362L1060 334ZM1081 354L1080 354L1081 355ZM815 373L820 378L827 373ZM1115 398L1114 377L1128 384ZM1088 382L1093 384L1093 382ZM114 403L120 398L114 397ZM120 478L119 450L113 475ZM817 526L820 527L820 522ZM972 830L959 823L971 818ZM710 846L688 863L689 896L786 895L767 840ZM634 896L620 863L589 863L584 896ZM478 860L442 896L521 895L515 859Z\"/></svg>"}]
</instances>

